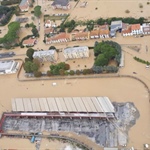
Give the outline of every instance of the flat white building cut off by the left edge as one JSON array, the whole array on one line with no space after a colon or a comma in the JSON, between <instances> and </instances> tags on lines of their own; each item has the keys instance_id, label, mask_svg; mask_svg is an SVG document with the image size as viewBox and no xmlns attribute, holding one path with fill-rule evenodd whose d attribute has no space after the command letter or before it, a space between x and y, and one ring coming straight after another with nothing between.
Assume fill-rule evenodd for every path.
<instances>
[{"instance_id":1,"label":"flat white building cut off by the left edge","mask_svg":"<svg viewBox=\"0 0 150 150\"><path fill-rule=\"evenodd\" d=\"M16 73L19 67L19 63L14 60L0 61L0 74Z\"/></svg>"}]
</instances>

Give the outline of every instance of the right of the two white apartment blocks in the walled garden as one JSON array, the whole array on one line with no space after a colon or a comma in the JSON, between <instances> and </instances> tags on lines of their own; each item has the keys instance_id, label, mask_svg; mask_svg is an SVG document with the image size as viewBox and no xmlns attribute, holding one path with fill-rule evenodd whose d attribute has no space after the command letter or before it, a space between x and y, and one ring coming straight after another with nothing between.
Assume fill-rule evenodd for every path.
<instances>
[{"instance_id":1,"label":"right of the two white apartment blocks in the walled garden","mask_svg":"<svg viewBox=\"0 0 150 150\"><path fill-rule=\"evenodd\" d=\"M64 49L65 59L87 58L89 57L89 48L87 46L71 47Z\"/></svg>"}]
</instances>

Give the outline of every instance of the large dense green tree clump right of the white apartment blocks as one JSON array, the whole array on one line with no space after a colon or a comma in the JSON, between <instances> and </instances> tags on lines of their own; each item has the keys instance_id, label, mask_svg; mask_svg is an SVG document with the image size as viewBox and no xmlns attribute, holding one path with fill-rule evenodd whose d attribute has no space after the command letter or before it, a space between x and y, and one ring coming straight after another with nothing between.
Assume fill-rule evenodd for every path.
<instances>
[{"instance_id":1,"label":"large dense green tree clump right of the white apartment blocks","mask_svg":"<svg viewBox=\"0 0 150 150\"><path fill-rule=\"evenodd\" d=\"M107 66L110 60L120 63L121 47L113 41L95 42L94 46L95 66Z\"/></svg>"}]
</instances>

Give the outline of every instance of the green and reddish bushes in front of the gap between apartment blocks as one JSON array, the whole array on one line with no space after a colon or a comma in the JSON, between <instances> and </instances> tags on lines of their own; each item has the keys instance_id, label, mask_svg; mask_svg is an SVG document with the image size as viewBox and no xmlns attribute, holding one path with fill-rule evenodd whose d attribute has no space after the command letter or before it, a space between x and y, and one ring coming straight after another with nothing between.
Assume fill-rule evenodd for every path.
<instances>
[{"instance_id":1,"label":"green and reddish bushes in front of the gap between apartment blocks","mask_svg":"<svg viewBox=\"0 0 150 150\"><path fill-rule=\"evenodd\" d=\"M64 75L65 70L69 70L70 66L64 62L58 63L56 65L50 65L50 71L52 75Z\"/></svg>"}]
</instances>

